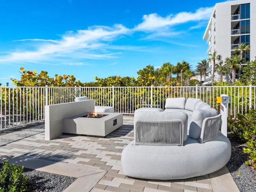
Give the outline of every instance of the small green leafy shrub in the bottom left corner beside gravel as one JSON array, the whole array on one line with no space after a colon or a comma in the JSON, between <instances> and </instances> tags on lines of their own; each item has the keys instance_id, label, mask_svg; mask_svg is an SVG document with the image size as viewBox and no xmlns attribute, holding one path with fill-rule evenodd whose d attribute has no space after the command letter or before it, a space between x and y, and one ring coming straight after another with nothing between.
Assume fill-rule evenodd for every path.
<instances>
[{"instance_id":1,"label":"small green leafy shrub in the bottom left corner beside gravel","mask_svg":"<svg viewBox=\"0 0 256 192\"><path fill-rule=\"evenodd\" d=\"M26 186L28 178L23 176L23 168L23 166L8 164L8 160L4 161L0 171L0 192L28 191Z\"/></svg>"}]
</instances>

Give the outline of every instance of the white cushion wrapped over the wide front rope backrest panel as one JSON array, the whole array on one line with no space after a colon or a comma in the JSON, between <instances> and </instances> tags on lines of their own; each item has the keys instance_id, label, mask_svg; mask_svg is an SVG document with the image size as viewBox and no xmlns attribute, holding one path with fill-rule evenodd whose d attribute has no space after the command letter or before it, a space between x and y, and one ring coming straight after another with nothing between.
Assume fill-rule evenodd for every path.
<instances>
[{"instance_id":1,"label":"white cushion wrapped over the wide front rope backrest panel","mask_svg":"<svg viewBox=\"0 0 256 192\"><path fill-rule=\"evenodd\" d=\"M184 122L184 135L183 141L187 139L188 115L184 112L137 112L134 115L134 136L136 136L136 123L138 120L177 120L180 119Z\"/></svg>"}]
</instances>

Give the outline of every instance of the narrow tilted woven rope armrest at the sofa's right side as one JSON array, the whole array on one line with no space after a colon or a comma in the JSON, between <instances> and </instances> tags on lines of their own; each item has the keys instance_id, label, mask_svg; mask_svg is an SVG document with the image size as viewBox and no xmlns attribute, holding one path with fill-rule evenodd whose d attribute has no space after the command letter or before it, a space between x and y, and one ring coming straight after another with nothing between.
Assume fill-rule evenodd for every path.
<instances>
[{"instance_id":1,"label":"narrow tilted woven rope armrest at the sofa's right side","mask_svg":"<svg viewBox=\"0 0 256 192\"><path fill-rule=\"evenodd\" d=\"M221 114L214 117L205 118L203 121L200 143L204 143L216 138L219 135L221 124Z\"/></svg>"}]
</instances>

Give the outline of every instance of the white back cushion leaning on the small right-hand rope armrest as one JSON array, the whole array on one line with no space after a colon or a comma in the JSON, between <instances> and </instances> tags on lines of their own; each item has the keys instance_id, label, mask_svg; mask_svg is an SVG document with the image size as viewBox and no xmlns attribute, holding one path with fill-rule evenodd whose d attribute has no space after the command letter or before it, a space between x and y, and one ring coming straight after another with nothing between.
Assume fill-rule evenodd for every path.
<instances>
[{"instance_id":1,"label":"white back cushion leaning on the small right-hand rope armrest","mask_svg":"<svg viewBox=\"0 0 256 192\"><path fill-rule=\"evenodd\" d=\"M189 136L193 139L199 139L202 130L202 124L206 117L217 116L218 113L214 108L207 110L196 109L191 115L190 127L189 127Z\"/></svg>"}]
</instances>

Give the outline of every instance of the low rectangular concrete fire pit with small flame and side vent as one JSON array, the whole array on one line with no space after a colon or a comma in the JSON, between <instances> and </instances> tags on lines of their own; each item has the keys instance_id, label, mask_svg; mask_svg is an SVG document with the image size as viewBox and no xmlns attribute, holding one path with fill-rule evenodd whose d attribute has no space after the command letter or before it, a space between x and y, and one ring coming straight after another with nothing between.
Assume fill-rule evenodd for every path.
<instances>
[{"instance_id":1,"label":"low rectangular concrete fire pit with small flame and side vent","mask_svg":"<svg viewBox=\"0 0 256 192\"><path fill-rule=\"evenodd\" d=\"M88 113L79 114L62 120L63 133L82 134L91 136L106 136L123 125L122 113L105 114L101 118L86 118Z\"/></svg>"}]
</instances>

